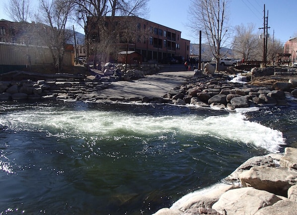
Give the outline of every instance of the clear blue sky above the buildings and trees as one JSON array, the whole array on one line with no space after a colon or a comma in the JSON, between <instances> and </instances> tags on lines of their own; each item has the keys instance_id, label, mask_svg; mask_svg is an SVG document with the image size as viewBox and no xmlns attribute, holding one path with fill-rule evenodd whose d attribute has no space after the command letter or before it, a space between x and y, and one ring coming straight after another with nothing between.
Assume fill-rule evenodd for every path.
<instances>
[{"instance_id":1,"label":"clear blue sky above the buildings and trees","mask_svg":"<svg viewBox=\"0 0 297 215\"><path fill-rule=\"evenodd\" d=\"M3 9L4 0L0 0L0 19L9 18ZM36 2L38 0L31 0ZM5 1L7 2L7 1ZM297 0L229 0L228 12L230 13L229 24L231 26L255 24L256 34L263 30L264 4L266 16L268 11L268 33L270 39L285 43L291 37L297 36ZM191 43L198 43L196 35L193 35L187 23L191 20L188 13L190 0L149 0L149 14L146 19L161 25L179 30L181 37L190 40ZM83 31L81 31L83 32Z\"/></svg>"}]
</instances>

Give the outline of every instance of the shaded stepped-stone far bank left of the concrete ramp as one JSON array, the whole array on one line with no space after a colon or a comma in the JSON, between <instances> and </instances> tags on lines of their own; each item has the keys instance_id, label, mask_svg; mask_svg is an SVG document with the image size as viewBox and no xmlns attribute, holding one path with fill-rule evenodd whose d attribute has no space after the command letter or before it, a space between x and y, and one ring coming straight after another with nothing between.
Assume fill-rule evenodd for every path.
<instances>
[{"instance_id":1,"label":"shaded stepped-stone far bank left of the concrete ramp","mask_svg":"<svg viewBox=\"0 0 297 215\"><path fill-rule=\"evenodd\" d=\"M85 74L43 74L12 71L0 75L0 100L62 100L87 102L116 102L124 98L95 97L93 93L113 88L113 82L131 81L154 74L161 68L148 65L125 65L110 63L104 71L90 70ZM118 75L114 74L117 71ZM127 82L129 83L129 82Z\"/></svg>"}]
</instances>

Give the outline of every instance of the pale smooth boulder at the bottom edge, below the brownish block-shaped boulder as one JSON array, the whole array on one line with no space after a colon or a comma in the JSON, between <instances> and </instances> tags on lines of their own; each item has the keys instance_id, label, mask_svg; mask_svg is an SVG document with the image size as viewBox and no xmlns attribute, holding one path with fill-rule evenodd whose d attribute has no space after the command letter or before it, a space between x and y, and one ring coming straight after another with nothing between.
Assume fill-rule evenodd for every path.
<instances>
[{"instance_id":1,"label":"pale smooth boulder at the bottom edge, below the brownish block-shaped boulder","mask_svg":"<svg viewBox=\"0 0 297 215\"><path fill-rule=\"evenodd\" d=\"M253 215L280 200L267 191L244 187L225 192L212 208L223 215Z\"/></svg>"}]
</instances>

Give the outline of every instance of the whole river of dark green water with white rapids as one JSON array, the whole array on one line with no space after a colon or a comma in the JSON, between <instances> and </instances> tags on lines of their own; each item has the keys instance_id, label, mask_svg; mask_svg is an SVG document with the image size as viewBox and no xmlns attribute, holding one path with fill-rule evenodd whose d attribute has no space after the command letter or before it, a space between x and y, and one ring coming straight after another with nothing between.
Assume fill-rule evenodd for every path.
<instances>
[{"instance_id":1,"label":"whole river of dark green water with white rapids","mask_svg":"<svg viewBox=\"0 0 297 215\"><path fill-rule=\"evenodd\" d=\"M0 215L153 214L296 147L295 107L0 104Z\"/></svg>"}]
</instances>

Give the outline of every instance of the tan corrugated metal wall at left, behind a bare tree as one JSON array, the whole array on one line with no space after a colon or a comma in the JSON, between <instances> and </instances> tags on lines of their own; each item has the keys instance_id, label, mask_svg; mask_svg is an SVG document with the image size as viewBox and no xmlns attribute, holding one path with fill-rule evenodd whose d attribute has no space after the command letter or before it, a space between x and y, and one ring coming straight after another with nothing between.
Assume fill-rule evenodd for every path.
<instances>
[{"instance_id":1,"label":"tan corrugated metal wall at left, behind a bare tree","mask_svg":"<svg viewBox=\"0 0 297 215\"><path fill-rule=\"evenodd\" d=\"M53 57L48 47L29 46L27 48L22 44L0 43L0 65L27 65L28 55L30 55L32 66L53 63ZM72 55L71 51L64 53L63 65L74 65Z\"/></svg>"}]
</instances>

